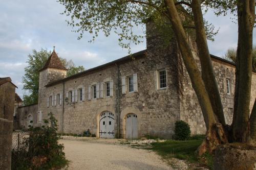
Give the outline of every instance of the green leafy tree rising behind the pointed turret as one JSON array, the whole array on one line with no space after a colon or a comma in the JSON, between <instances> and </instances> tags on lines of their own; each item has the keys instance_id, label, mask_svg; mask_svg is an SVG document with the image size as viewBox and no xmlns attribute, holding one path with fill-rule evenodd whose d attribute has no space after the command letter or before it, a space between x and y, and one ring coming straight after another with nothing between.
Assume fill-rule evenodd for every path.
<instances>
[{"instance_id":1,"label":"green leafy tree rising behind the pointed turret","mask_svg":"<svg viewBox=\"0 0 256 170\"><path fill-rule=\"evenodd\" d=\"M23 96L23 104L36 104L38 101L39 90L39 70L45 66L47 59L51 56L51 51L41 48L40 51L33 50L32 54L28 55L28 66L25 67L25 75L23 76L23 89L28 90L29 95ZM67 61L59 57L61 63L68 68L67 76L72 76L80 71L84 71L83 66L76 67L72 60Z\"/></svg>"}]
</instances>

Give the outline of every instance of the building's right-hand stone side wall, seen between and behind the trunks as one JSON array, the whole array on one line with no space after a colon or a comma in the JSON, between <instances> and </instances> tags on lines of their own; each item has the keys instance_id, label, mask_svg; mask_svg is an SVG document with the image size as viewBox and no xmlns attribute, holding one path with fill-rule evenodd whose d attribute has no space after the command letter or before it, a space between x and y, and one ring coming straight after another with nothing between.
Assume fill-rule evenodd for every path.
<instances>
[{"instance_id":1,"label":"building's right-hand stone side wall, seen between and behind the trunks","mask_svg":"<svg viewBox=\"0 0 256 170\"><path fill-rule=\"evenodd\" d=\"M235 66L227 62L212 58L215 76L218 83L224 116L226 123L231 125L233 116L233 99L234 99L234 83L235 83ZM204 134L206 131L203 114L198 103L198 99L194 89L191 86L187 72L185 72L186 81L184 81L184 95L181 101L181 119L190 125L192 134ZM230 94L227 94L226 79L230 83ZM256 97L256 74L252 74L252 88L250 111Z\"/></svg>"}]
</instances>

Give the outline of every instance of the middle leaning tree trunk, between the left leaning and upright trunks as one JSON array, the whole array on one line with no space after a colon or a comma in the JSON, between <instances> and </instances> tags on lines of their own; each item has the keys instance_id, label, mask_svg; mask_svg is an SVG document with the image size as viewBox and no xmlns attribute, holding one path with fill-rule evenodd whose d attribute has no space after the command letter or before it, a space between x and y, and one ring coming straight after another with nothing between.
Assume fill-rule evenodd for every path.
<instances>
[{"instance_id":1,"label":"middle leaning tree trunk, between the left leaning and upright trunks","mask_svg":"<svg viewBox=\"0 0 256 170\"><path fill-rule=\"evenodd\" d=\"M226 125L221 96L218 88L217 81L214 75L214 68L212 66L212 61L210 58L210 53L208 50L203 14L201 9L201 1L193 0L192 1L192 10L194 15L194 22L196 26L196 42L199 52L199 59L201 63L202 69L202 78L208 92L209 98L211 99L211 106L214 109L214 113L218 117L218 122L220 122L223 126Z\"/></svg>"}]
</instances>

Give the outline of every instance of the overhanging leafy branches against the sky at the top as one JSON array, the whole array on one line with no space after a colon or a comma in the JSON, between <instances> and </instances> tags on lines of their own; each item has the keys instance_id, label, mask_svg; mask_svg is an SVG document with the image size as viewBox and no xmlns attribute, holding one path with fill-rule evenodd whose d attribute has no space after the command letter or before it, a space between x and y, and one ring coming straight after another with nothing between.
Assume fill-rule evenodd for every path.
<instances>
[{"instance_id":1,"label":"overhanging leafy branches against the sky at the top","mask_svg":"<svg viewBox=\"0 0 256 170\"><path fill-rule=\"evenodd\" d=\"M143 24L148 20L156 23L157 29L163 35L165 41L172 39L172 26L167 20L166 7L164 1L72 1L59 0L59 3L65 6L62 14L70 16L68 25L73 27L74 32L80 33L78 39L83 37L85 32L92 35L92 42L96 39L100 32L105 36L111 33L118 35L119 45L128 48L130 52L131 43L138 44L145 37L145 30L142 32L134 32L134 29L144 27ZM179 8L180 13L186 15L183 25L187 33L191 33L193 26L191 25L191 11L185 11ZM166 17L163 17L166 16ZM207 38L214 40L215 31L213 25L205 21L205 29Z\"/></svg>"}]
</instances>

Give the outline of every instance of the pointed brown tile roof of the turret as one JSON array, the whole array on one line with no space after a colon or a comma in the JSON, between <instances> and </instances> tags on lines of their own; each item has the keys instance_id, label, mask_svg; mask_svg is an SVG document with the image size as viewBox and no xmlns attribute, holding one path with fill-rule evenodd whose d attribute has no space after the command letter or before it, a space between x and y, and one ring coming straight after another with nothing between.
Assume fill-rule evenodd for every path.
<instances>
[{"instance_id":1,"label":"pointed brown tile roof of the turret","mask_svg":"<svg viewBox=\"0 0 256 170\"><path fill-rule=\"evenodd\" d=\"M40 71L46 69L46 68L56 68L56 69L62 69L62 70L68 70L67 68L65 68L60 59L58 58L58 55L56 54L55 50L53 50L51 56L48 58L45 66L40 69Z\"/></svg>"}]
</instances>

